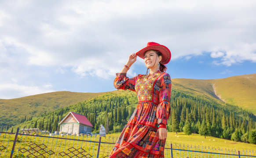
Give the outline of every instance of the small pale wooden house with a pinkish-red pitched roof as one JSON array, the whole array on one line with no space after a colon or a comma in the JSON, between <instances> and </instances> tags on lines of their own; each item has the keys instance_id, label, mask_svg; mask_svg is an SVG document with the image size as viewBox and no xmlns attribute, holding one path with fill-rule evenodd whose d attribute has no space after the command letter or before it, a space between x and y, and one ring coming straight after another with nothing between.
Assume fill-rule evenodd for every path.
<instances>
[{"instance_id":1,"label":"small pale wooden house with a pinkish-red pitched roof","mask_svg":"<svg viewBox=\"0 0 256 158\"><path fill-rule=\"evenodd\" d=\"M65 132L69 134L80 134L91 132L91 122L84 116L75 112L69 112L65 118L59 122L59 132Z\"/></svg>"}]
</instances>

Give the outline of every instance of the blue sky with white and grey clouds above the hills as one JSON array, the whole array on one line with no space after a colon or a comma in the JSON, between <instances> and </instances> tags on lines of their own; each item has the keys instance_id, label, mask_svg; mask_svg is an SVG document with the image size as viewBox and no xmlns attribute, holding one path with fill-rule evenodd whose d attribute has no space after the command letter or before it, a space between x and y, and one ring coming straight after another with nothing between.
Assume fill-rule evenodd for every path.
<instances>
[{"instance_id":1,"label":"blue sky with white and grey clouds above the hills","mask_svg":"<svg viewBox=\"0 0 256 158\"><path fill-rule=\"evenodd\" d=\"M172 79L256 73L255 0L0 0L0 99L106 92L147 42ZM128 77L145 74L143 59Z\"/></svg>"}]
</instances>

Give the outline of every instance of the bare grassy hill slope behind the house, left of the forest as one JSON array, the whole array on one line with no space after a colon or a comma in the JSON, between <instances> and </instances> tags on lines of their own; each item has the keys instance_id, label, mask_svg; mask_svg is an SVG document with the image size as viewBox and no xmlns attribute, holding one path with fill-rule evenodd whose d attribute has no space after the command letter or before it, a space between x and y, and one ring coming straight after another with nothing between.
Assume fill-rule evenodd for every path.
<instances>
[{"instance_id":1,"label":"bare grassy hill slope behind the house, left of the forest","mask_svg":"<svg viewBox=\"0 0 256 158\"><path fill-rule=\"evenodd\" d=\"M81 101L103 95L103 93L52 92L17 99L0 99L0 125L18 124L22 118L38 116L45 112L65 108Z\"/></svg>"}]
</instances>

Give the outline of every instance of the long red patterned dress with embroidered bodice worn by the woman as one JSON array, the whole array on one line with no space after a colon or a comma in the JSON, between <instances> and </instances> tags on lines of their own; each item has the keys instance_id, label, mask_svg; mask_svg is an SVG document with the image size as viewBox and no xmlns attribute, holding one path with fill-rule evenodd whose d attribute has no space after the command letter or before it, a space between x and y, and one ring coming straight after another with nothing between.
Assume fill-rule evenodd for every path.
<instances>
[{"instance_id":1,"label":"long red patterned dress with embroidered bodice worn by the woman","mask_svg":"<svg viewBox=\"0 0 256 158\"><path fill-rule=\"evenodd\" d=\"M164 158L166 139L159 139L157 126L166 124L170 115L170 75L157 71L147 79L145 75L129 79L126 73L117 73L114 86L135 91L139 103L109 158Z\"/></svg>"}]
</instances>

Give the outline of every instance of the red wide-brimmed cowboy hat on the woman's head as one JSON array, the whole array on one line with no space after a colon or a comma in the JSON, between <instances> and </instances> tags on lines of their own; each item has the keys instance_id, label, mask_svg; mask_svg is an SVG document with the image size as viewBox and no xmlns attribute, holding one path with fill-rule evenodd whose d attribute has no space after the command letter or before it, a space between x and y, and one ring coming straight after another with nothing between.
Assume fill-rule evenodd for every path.
<instances>
[{"instance_id":1,"label":"red wide-brimmed cowboy hat on the woman's head","mask_svg":"<svg viewBox=\"0 0 256 158\"><path fill-rule=\"evenodd\" d=\"M147 50L157 50L157 51L161 52L161 54L162 54L161 63L164 65L167 64L171 60L171 51L167 47L165 47L161 44L155 43L155 42L148 42L146 47L143 48L142 50L139 50L136 53L136 55L138 55L139 57L144 59L144 55Z\"/></svg>"}]
</instances>

